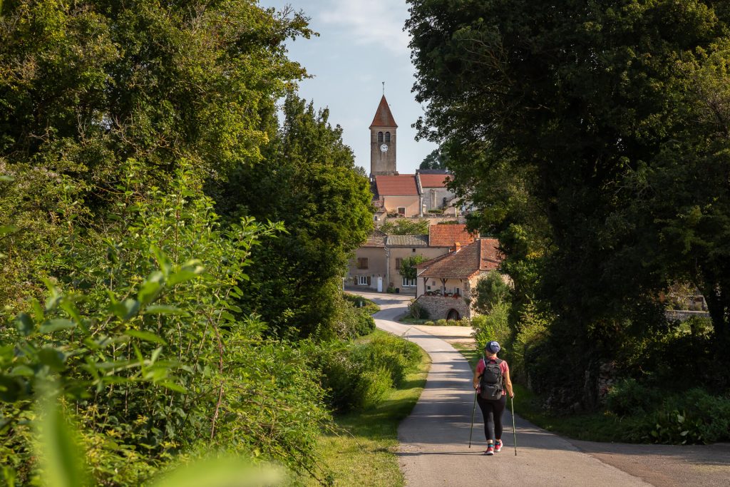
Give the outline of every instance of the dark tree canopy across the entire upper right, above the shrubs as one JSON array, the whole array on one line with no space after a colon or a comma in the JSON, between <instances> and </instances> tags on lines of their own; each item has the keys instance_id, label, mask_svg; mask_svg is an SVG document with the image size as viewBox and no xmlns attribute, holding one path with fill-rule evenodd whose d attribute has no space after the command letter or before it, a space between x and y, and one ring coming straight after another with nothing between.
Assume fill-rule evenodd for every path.
<instances>
[{"instance_id":1,"label":"dark tree canopy across the entire upper right, above the shrubs","mask_svg":"<svg viewBox=\"0 0 730 487\"><path fill-rule=\"evenodd\" d=\"M553 345L597 367L625 326L665 326L658 291L684 275L726 348L727 5L409 3L420 137L447 148L515 295L555 312Z\"/></svg>"}]
</instances>

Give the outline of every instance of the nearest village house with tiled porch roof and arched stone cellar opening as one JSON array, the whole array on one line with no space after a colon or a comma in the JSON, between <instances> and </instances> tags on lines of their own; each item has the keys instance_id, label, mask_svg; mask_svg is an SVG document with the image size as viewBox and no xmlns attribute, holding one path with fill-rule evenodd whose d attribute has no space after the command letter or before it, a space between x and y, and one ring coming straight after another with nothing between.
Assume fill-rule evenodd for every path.
<instances>
[{"instance_id":1,"label":"nearest village house with tiled porch roof and arched stone cellar opening","mask_svg":"<svg viewBox=\"0 0 730 487\"><path fill-rule=\"evenodd\" d=\"M498 247L497 239L476 239L416 266L416 297L430 318L458 320L475 315L472 292L480 277L496 272L502 260Z\"/></svg>"}]
</instances>

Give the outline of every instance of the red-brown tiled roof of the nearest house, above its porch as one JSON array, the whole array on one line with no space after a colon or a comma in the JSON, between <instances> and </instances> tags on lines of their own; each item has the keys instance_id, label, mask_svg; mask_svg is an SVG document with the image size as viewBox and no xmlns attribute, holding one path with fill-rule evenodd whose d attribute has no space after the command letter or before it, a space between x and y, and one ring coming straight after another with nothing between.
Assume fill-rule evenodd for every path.
<instances>
[{"instance_id":1,"label":"red-brown tiled roof of the nearest house, above its porch","mask_svg":"<svg viewBox=\"0 0 730 487\"><path fill-rule=\"evenodd\" d=\"M460 250L418 264L418 277L469 279L479 272L495 270L502 260L497 239L478 239Z\"/></svg>"}]
</instances>

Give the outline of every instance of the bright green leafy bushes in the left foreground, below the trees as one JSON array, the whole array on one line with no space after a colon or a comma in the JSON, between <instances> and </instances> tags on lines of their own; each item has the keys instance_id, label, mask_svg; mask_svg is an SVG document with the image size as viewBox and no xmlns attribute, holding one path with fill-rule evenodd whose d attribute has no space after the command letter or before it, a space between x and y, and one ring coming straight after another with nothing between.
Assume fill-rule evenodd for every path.
<instances>
[{"instance_id":1,"label":"bright green leafy bushes in the left foreground, below the trees","mask_svg":"<svg viewBox=\"0 0 730 487\"><path fill-rule=\"evenodd\" d=\"M0 329L6 477L42 479L32 425L49 379L96 483L139 485L203 445L317 475L310 447L328 418L318 377L234 304L251 249L280 227L220 229L189 173L174 190L131 199L124 231L69 249L69 273L49 283L45 304Z\"/></svg>"}]
</instances>

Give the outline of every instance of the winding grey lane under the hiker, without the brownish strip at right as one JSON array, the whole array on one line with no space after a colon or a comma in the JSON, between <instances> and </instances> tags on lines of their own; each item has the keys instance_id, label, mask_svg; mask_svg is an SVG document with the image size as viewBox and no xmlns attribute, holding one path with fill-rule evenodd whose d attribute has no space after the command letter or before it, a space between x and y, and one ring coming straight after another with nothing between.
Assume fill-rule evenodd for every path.
<instances>
[{"instance_id":1,"label":"winding grey lane under the hiker, without the brownish strip at right","mask_svg":"<svg viewBox=\"0 0 730 487\"><path fill-rule=\"evenodd\" d=\"M556 434L516 417L518 455L512 440L512 415L504 413L504 448L484 456L483 421L477 407L472 448L469 445L474 389L472 369L445 340L414 326L396 323L410 297L363 294L381 310L379 329L407 336L426 350L432 364L426 388L411 415L398 429L399 461L408 486L650 486L641 478L580 452ZM507 402L509 405L509 401ZM509 407L508 407L509 409Z\"/></svg>"}]
</instances>

